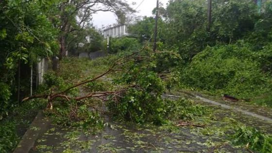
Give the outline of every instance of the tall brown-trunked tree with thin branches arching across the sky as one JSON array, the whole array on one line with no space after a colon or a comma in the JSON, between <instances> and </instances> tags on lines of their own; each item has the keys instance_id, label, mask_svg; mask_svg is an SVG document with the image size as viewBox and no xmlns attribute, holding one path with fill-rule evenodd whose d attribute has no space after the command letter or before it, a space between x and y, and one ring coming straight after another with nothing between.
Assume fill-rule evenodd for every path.
<instances>
[{"instance_id":1,"label":"tall brown-trunked tree with thin branches arching across the sky","mask_svg":"<svg viewBox=\"0 0 272 153\"><path fill-rule=\"evenodd\" d=\"M135 12L128 3L122 0L61 0L57 9L58 14L53 17L53 20L60 30L60 59L66 54L68 34L86 27L92 14L99 11L110 11L117 14Z\"/></svg>"}]
</instances>

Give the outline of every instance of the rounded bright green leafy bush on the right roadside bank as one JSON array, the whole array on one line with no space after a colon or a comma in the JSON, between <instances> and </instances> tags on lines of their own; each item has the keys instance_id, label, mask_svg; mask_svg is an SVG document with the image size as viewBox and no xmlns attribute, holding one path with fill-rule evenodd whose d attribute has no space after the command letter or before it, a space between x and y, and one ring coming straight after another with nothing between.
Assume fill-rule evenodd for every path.
<instances>
[{"instance_id":1,"label":"rounded bright green leafy bush on the right roadside bank","mask_svg":"<svg viewBox=\"0 0 272 153\"><path fill-rule=\"evenodd\" d=\"M247 44L207 47L181 72L187 86L239 97L270 90L271 77L260 68L256 53Z\"/></svg>"}]
</instances>

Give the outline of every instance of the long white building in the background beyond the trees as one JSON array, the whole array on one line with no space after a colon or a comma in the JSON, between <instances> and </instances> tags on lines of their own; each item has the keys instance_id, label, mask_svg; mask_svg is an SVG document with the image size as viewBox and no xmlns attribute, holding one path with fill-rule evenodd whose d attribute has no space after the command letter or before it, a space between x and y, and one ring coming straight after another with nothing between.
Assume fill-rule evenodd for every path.
<instances>
[{"instance_id":1,"label":"long white building in the background beyond the trees","mask_svg":"<svg viewBox=\"0 0 272 153\"><path fill-rule=\"evenodd\" d=\"M128 25L123 24L123 25L117 25L117 26L106 28L103 30L104 38L107 38L107 36L114 37L114 38L126 36L128 35L127 27Z\"/></svg>"}]
</instances>

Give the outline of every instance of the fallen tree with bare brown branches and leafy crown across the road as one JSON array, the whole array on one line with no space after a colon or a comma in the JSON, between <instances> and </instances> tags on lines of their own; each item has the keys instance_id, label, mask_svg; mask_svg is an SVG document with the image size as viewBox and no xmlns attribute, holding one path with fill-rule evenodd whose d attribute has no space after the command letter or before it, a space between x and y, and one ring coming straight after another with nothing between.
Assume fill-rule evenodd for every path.
<instances>
[{"instance_id":1,"label":"fallen tree with bare brown branches and leafy crown across the road","mask_svg":"<svg viewBox=\"0 0 272 153\"><path fill-rule=\"evenodd\" d=\"M27 97L23 101L37 98L46 99L50 110L54 110L53 103L74 103L75 106L71 106L69 108L71 110L68 112L77 112L78 104L87 105L103 114L116 114L115 117L119 119L136 123L162 124L165 122L166 113L165 103L162 99L165 82L160 78L163 74L155 71L156 65L160 60L163 60L161 54L166 54L166 52L153 52L144 48L142 51L133 52L116 60L108 70L97 77L72 85L59 92L51 89L47 94ZM71 90L81 85L93 83L107 74L117 74L117 78L113 82L119 86L116 90L89 92L84 96L69 94ZM90 103L94 101L105 103L110 113ZM73 115L73 119L74 117Z\"/></svg>"}]
</instances>

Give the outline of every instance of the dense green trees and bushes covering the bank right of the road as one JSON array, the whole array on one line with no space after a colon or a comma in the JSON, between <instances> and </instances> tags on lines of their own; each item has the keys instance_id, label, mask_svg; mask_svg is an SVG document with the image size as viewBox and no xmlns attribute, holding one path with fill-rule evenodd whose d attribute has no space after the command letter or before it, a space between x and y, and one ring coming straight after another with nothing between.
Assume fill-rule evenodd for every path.
<instances>
[{"instance_id":1,"label":"dense green trees and bushes covering the bank right of the road","mask_svg":"<svg viewBox=\"0 0 272 153\"><path fill-rule=\"evenodd\" d=\"M162 11L159 49L182 57L175 69L179 84L271 106L265 95L271 93L272 3L259 8L251 0L213 0L210 30L206 6L205 0L170 0ZM130 32L141 42L151 42L152 28L153 20L145 17Z\"/></svg>"}]
</instances>

